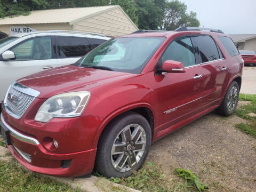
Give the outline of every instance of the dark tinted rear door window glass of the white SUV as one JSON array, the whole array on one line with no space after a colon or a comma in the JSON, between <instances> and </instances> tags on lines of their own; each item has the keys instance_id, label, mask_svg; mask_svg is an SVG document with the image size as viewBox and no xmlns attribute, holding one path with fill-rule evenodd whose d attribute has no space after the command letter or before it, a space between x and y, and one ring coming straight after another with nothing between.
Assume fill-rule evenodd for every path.
<instances>
[{"instance_id":1,"label":"dark tinted rear door window glass of the white SUV","mask_svg":"<svg viewBox=\"0 0 256 192\"><path fill-rule=\"evenodd\" d=\"M92 50L87 38L59 37L59 54L61 58L81 57Z\"/></svg>"}]
</instances>

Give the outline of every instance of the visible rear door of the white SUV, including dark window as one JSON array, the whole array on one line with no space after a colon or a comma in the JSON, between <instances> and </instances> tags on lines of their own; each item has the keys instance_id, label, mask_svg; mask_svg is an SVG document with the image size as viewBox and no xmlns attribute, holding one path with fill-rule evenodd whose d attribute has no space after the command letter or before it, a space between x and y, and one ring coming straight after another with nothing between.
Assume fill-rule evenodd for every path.
<instances>
[{"instance_id":1,"label":"visible rear door of the white SUV, including dark window","mask_svg":"<svg viewBox=\"0 0 256 192\"><path fill-rule=\"evenodd\" d=\"M57 55L59 65L75 63L91 50L92 46L87 38L70 36L57 37Z\"/></svg>"}]
</instances>

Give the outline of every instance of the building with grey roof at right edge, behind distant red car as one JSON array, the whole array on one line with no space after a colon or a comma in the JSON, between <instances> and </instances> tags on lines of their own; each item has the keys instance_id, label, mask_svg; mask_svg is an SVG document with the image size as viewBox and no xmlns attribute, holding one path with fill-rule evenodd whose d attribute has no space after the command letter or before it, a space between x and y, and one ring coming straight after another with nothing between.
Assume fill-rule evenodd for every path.
<instances>
[{"instance_id":1,"label":"building with grey roof at right edge, behind distant red car","mask_svg":"<svg viewBox=\"0 0 256 192\"><path fill-rule=\"evenodd\" d=\"M256 52L256 34L235 34L230 35L238 50Z\"/></svg>"}]
</instances>

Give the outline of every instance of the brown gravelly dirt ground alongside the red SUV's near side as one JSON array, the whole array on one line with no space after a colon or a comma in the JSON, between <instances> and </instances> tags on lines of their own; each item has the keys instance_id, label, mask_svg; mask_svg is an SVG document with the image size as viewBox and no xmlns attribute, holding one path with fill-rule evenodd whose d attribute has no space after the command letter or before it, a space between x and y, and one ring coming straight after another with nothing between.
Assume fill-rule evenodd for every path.
<instances>
[{"instance_id":1,"label":"brown gravelly dirt ground alongside the red SUV's near side","mask_svg":"<svg viewBox=\"0 0 256 192\"><path fill-rule=\"evenodd\" d=\"M153 143L147 161L169 178L177 177L175 167L191 170L209 191L256 191L256 139L236 130L237 123L246 121L212 112Z\"/></svg>"}]
</instances>

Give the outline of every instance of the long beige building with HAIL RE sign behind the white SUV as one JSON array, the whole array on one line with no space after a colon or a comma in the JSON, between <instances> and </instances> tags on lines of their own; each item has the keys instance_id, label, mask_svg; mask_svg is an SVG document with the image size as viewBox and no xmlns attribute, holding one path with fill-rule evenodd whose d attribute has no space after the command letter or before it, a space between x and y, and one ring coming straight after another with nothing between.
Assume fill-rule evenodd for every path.
<instances>
[{"instance_id":1,"label":"long beige building with HAIL RE sign behind the white SUV","mask_svg":"<svg viewBox=\"0 0 256 192\"><path fill-rule=\"evenodd\" d=\"M27 16L0 19L0 31L7 35L36 30L76 30L115 37L138 27L119 5L31 11Z\"/></svg>"}]
</instances>

